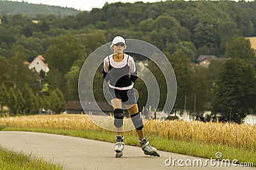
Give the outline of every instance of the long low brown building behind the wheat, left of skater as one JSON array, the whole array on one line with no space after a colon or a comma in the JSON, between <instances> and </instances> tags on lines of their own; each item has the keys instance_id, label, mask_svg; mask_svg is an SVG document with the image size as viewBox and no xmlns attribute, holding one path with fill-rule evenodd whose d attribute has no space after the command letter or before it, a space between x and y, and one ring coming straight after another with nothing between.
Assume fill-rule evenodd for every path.
<instances>
[{"instance_id":1,"label":"long low brown building behind the wheat, left of skater","mask_svg":"<svg viewBox=\"0 0 256 170\"><path fill-rule=\"evenodd\" d=\"M83 105L83 107L82 107ZM66 105L67 113L90 113L92 115L102 115L102 112L106 115L113 115L113 108L107 102L88 102L88 101L68 101ZM104 115L102 115L104 116Z\"/></svg>"}]
</instances>

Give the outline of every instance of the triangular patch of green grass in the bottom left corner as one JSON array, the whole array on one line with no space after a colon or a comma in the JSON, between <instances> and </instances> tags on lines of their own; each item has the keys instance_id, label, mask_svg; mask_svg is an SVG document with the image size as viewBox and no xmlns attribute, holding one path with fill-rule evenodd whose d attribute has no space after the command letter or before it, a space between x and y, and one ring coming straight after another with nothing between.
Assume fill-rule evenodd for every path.
<instances>
[{"instance_id":1,"label":"triangular patch of green grass in the bottom left corner","mask_svg":"<svg viewBox=\"0 0 256 170\"><path fill-rule=\"evenodd\" d=\"M6 150L0 146L0 169L62 169L60 164L52 164L45 162L43 159L35 158L33 155L25 155L24 153L16 153L12 150Z\"/></svg>"}]
</instances>

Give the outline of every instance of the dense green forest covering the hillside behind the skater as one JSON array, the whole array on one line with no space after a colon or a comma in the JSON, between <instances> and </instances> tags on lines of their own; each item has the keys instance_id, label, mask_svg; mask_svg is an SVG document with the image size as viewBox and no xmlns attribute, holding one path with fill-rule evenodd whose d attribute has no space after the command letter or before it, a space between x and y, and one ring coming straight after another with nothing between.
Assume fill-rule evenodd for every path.
<instances>
[{"instance_id":1,"label":"dense green forest covering the hillside behind the skater","mask_svg":"<svg viewBox=\"0 0 256 170\"><path fill-rule=\"evenodd\" d=\"M232 110L232 119L235 120L236 115L243 118L256 108L255 53L250 41L244 39L256 36L255 6L255 1L165 1L106 3L103 8L66 17L2 14L0 105L10 108L13 96L22 96L22 91L28 94L28 90L33 97L46 98L38 104L44 108L51 108L54 103L47 102L54 90L55 97L59 96L62 103L77 100L77 80L84 60L99 46L120 35L147 41L170 60L177 78L173 111L183 110L186 98L186 109L195 112L193 114L211 110L213 114L223 113L231 119ZM33 20L38 20L38 24ZM24 60L31 62L37 55L45 57L50 69L48 74L31 73L22 65ZM199 55L216 55L226 60L214 60L207 68L198 67ZM137 61L145 59L139 55L132 57ZM149 63L148 69L161 84L161 110L166 99L166 82L153 62ZM101 71L102 67L93 82L97 101L104 101ZM49 85L48 93L42 93L44 89L36 81L38 77L41 83ZM137 81L136 89L140 96L145 96L138 101L141 110L147 102L147 92L141 80ZM9 97L3 97L3 94ZM12 106L13 113L37 110L38 106L25 106L25 99L28 96L19 101L22 104L15 105L16 108Z\"/></svg>"}]
</instances>

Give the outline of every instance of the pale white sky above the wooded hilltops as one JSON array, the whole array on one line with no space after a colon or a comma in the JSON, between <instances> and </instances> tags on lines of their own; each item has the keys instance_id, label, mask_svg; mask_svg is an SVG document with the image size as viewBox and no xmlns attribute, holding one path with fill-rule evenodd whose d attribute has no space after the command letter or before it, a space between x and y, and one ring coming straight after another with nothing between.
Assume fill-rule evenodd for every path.
<instances>
[{"instance_id":1,"label":"pale white sky above the wooded hilltops","mask_svg":"<svg viewBox=\"0 0 256 170\"><path fill-rule=\"evenodd\" d=\"M76 10L86 10L90 11L92 8L102 8L105 3L134 3L136 1L142 1L143 3L154 3L161 0L10 0L10 1L18 1L18 2L27 2L33 4L48 4L54 6L62 6L68 8L75 8ZM162 0L165 1L165 0Z\"/></svg>"}]
</instances>

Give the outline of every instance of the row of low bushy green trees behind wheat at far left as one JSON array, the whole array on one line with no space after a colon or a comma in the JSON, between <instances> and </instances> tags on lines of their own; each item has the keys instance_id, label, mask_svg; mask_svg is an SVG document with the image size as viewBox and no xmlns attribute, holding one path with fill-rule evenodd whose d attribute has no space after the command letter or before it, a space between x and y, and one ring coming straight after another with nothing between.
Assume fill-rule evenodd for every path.
<instances>
[{"instance_id":1,"label":"row of low bushy green trees behind wheat at far left","mask_svg":"<svg viewBox=\"0 0 256 170\"><path fill-rule=\"evenodd\" d=\"M49 96L34 94L33 89L25 84L22 89L7 88L3 83L0 86L0 111L7 106L12 115L36 114L42 108L61 113L65 109L66 101L59 89L54 89Z\"/></svg>"}]
</instances>

